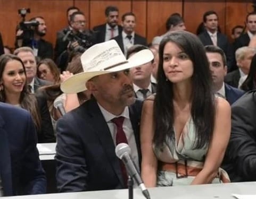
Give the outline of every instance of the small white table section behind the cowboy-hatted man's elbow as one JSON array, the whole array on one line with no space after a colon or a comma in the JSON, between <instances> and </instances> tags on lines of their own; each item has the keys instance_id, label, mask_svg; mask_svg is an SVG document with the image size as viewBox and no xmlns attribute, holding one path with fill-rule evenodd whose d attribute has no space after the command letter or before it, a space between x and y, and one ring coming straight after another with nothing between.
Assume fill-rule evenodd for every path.
<instances>
[{"instance_id":1,"label":"small white table section behind the cowboy-hatted man's elbow","mask_svg":"<svg viewBox=\"0 0 256 199\"><path fill-rule=\"evenodd\" d=\"M40 160L54 160L56 143L39 143L37 149Z\"/></svg>"}]
</instances>

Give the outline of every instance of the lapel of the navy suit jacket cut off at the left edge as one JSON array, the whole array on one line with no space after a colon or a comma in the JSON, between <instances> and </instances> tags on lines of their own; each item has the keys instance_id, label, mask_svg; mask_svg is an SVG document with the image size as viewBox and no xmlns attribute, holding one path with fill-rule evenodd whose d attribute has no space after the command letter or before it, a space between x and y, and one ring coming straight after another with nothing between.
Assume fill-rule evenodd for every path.
<instances>
[{"instance_id":1,"label":"lapel of the navy suit jacket cut off at the left edge","mask_svg":"<svg viewBox=\"0 0 256 199\"><path fill-rule=\"evenodd\" d=\"M9 140L4 127L4 120L0 116L0 173L4 189L4 196L13 195L12 190L12 171Z\"/></svg>"}]
</instances>

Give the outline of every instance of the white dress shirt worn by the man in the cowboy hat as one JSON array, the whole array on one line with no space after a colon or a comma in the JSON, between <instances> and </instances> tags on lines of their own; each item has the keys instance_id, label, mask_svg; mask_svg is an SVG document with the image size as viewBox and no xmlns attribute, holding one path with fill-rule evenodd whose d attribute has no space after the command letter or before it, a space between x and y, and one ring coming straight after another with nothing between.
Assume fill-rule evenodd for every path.
<instances>
[{"instance_id":1,"label":"white dress shirt worn by the man in the cowboy hat","mask_svg":"<svg viewBox=\"0 0 256 199\"><path fill-rule=\"evenodd\" d=\"M139 171L138 150L137 150L137 144L134 136L133 126L131 125L131 121L130 121L129 108L126 107L125 110L123 110L122 114L120 114L119 116L115 116L109 113L109 111L107 111L106 109L104 109L99 103L98 103L98 107L100 107L101 113L105 118L106 123L109 126L109 130L110 130L112 139L114 141L114 145L117 145L115 142L115 136L117 135L117 127L111 120L115 117L120 117L120 116L123 116L125 118L123 120L123 125L122 125L123 132L125 132L126 134L128 145L130 146L130 149L131 149L131 159L134 161L135 166Z\"/></svg>"}]
</instances>

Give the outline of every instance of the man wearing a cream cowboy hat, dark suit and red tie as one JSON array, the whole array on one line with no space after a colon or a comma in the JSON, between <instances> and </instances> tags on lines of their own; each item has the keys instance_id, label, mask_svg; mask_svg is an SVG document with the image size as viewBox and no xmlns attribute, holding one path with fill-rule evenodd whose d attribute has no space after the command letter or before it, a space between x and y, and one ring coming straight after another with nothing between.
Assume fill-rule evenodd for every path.
<instances>
[{"instance_id":1,"label":"man wearing a cream cowboy hat, dark suit and red tie","mask_svg":"<svg viewBox=\"0 0 256 199\"><path fill-rule=\"evenodd\" d=\"M59 192L120 189L127 185L115 145L126 142L139 168L139 120L142 102L135 100L129 68L150 62L150 50L126 59L115 40L97 44L81 56L84 72L61 84L65 93L85 90L92 99L57 122L56 179Z\"/></svg>"}]
</instances>

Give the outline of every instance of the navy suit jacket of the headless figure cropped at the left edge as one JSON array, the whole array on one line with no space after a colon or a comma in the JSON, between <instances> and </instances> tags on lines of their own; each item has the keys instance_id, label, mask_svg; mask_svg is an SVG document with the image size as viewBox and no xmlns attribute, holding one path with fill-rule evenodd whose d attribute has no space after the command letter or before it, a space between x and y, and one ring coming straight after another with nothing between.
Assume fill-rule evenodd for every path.
<instances>
[{"instance_id":1,"label":"navy suit jacket of the headless figure cropped at the left edge","mask_svg":"<svg viewBox=\"0 0 256 199\"><path fill-rule=\"evenodd\" d=\"M0 172L4 196L46 193L30 114L0 102Z\"/></svg>"}]
</instances>

